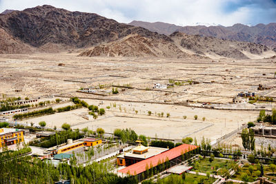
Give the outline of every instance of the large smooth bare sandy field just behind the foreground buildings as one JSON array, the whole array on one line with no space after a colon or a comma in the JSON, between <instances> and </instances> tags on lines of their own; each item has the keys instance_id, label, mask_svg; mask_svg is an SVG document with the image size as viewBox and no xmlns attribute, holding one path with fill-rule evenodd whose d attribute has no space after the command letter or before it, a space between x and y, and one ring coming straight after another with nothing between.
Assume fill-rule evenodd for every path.
<instances>
[{"instance_id":1,"label":"large smooth bare sandy field just behind the foreground buildings","mask_svg":"<svg viewBox=\"0 0 276 184\"><path fill-rule=\"evenodd\" d=\"M90 105L99 103L97 100L83 100ZM83 119L81 114L88 114L88 110L81 108L70 112L39 116L22 122L32 122L38 125L40 121L46 121L49 127L61 127L63 123L69 123L72 128L82 129L88 127L95 131L97 127L102 127L106 132L114 132L116 128L131 128L137 134L145 134L150 137L182 139L185 136L192 136L201 139L202 136L205 136L214 141L220 136L237 129L238 125L240 127L250 119L255 119L258 114L258 112L206 110L187 108L181 105L119 101L103 101L103 105L100 105L99 108L106 108L110 103L116 103L116 108L106 110L106 114L99 116L97 120L88 121ZM120 105L121 111L119 110ZM138 111L137 114L135 114L135 110ZM148 116L148 111L152 112L151 116ZM158 117L157 114L161 114L161 112L164 112L164 117ZM166 117L167 113L170 113L170 118ZM198 116L197 120L194 119L195 115ZM187 119L183 119L183 116L187 116ZM205 121L202 121L203 117L206 118Z\"/></svg>"}]
</instances>

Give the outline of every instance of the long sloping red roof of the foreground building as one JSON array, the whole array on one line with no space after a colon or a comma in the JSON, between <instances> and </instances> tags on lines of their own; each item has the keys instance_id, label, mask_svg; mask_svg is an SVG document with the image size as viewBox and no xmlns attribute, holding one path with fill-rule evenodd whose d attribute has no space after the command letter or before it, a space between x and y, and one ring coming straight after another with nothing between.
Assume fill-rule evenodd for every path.
<instances>
[{"instance_id":1,"label":"long sloping red roof of the foreground building","mask_svg":"<svg viewBox=\"0 0 276 184\"><path fill-rule=\"evenodd\" d=\"M119 170L118 172L121 172L124 174L131 174L131 175L141 174L142 172L146 171L147 165L148 167L150 167L150 165L152 165L152 167L155 167L158 165L159 161L161 162L171 161L170 162L171 166L176 165L177 163L181 162L182 154L195 150L197 149L197 147L199 146L188 145L188 144L179 145L177 147L172 148L171 150L152 156L149 159L146 159L144 161L140 161L138 163L125 167L124 169Z\"/></svg>"}]
</instances>

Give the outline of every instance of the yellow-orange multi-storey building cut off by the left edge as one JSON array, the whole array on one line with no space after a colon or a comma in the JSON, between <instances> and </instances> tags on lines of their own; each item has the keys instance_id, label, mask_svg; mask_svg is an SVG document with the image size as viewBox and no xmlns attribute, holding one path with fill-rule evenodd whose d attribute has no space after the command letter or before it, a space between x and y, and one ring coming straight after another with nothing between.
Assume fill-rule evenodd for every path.
<instances>
[{"instance_id":1,"label":"yellow-orange multi-storey building cut off by the left edge","mask_svg":"<svg viewBox=\"0 0 276 184\"><path fill-rule=\"evenodd\" d=\"M15 128L0 128L0 147L14 145L24 141L23 130Z\"/></svg>"}]
</instances>

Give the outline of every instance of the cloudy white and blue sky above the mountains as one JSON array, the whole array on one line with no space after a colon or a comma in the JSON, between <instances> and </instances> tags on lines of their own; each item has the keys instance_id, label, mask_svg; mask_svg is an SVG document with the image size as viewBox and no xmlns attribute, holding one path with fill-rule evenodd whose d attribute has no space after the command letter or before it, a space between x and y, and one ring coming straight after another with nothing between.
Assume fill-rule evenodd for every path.
<instances>
[{"instance_id":1,"label":"cloudy white and blue sky above the mountains","mask_svg":"<svg viewBox=\"0 0 276 184\"><path fill-rule=\"evenodd\" d=\"M230 26L276 22L276 0L0 0L0 12L44 4L93 12L121 23L136 20Z\"/></svg>"}]
</instances>

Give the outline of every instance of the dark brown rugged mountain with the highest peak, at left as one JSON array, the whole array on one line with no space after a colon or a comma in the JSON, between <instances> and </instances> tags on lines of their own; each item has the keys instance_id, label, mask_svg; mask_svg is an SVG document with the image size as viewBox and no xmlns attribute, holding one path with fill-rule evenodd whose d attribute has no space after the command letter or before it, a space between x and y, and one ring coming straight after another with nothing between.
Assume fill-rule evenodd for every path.
<instances>
[{"instance_id":1,"label":"dark brown rugged mountain with the highest peak, at left","mask_svg":"<svg viewBox=\"0 0 276 184\"><path fill-rule=\"evenodd\" d=\"M70 12L52 6L37 6L23 11L0 14L0 26L6 32L10 32L12 37L37 48L46 43L83 48L97 43L115 41L132 33L170 41L165 35L118 23L98 14Z\"/></svg>"}]
</instances>

